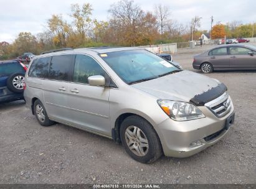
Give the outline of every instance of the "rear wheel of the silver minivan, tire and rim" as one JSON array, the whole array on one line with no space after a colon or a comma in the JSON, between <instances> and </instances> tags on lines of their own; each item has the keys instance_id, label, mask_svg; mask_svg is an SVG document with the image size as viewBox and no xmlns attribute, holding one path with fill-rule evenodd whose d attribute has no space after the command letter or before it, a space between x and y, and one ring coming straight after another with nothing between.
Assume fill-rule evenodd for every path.
<instances>
[{"instance_id":1,"label":"rear wheel of the silver minivan, tire and rim","mask_svg":"<svg viewBox=\"0 0 256 189\"><path fill-rule=\"evenodd\" d=\"M39 111L39 109L37 109L39 107L41 108L40 111ZM48 115L45 111L44 105L40 102L39 99L37 99L34 103L34 113L35 113L37 121L39 122L39 124L41 126L47 127L47 126L51 126L52 124L54 124L54 121L51 121L48 118ZM44 115L44 118L42 117L42 114Z\"/></svg>"}]
</instances>

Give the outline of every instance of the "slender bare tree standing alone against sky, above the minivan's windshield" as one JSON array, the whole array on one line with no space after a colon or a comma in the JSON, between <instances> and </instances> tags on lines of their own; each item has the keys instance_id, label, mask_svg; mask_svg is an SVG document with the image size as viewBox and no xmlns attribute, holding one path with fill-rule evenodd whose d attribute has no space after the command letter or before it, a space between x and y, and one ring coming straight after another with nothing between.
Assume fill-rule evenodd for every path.
<instances>
[{"instance_id":1,"label":"slender bare tree standing alone against sky, above the minivan's windshield","mask_svg":"<svg viewBox=\"0 0 256 189\"><path fill-rule=\"evenodd\" d=\"M156 19L160 27L161 40L163 40L163 30L164 27L167 25L167 21L169 19L169 16L171 15L171 11L168 6L158 4L154 6L154 14L156 15Z\"/></svg>"}]
</instances>

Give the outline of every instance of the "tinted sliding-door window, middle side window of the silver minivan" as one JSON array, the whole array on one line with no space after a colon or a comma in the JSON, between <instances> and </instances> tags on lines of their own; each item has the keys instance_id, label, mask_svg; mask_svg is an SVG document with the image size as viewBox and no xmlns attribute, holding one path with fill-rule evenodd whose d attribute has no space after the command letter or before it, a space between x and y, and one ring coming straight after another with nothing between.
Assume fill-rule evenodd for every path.
<instances>
[{"instance_id":1,"label":"tinted sliding-door window, middle side window of the silver minivan","mask_svg":"<svg viewBox=\"0 0 256 189\"><path fill-rule=\"evenodd\" d=\"M52 61L50 62L49 79L69 81L74 59L75 55L59 55L52 57Z\"/></svg>"}]
</instances>

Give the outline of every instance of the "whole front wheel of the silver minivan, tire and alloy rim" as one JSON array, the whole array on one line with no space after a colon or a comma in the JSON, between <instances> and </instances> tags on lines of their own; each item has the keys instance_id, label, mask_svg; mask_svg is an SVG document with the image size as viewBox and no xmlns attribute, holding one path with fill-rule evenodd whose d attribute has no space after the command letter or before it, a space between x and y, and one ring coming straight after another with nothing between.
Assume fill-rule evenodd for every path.
<instances>
[{"instance_id":1,"label":"whole front wheel of the silver minivan, tire and alloy rim","mask_svg":"<svg viewBox=\"0 0 256 189\"><path fill-rule=\"evenodd\" d=\"M126 118L121 123L120 135L126 152L138 162L149 164L161 157L161 142L145 119L138 116Z\"/></svg>"}]
</instances>

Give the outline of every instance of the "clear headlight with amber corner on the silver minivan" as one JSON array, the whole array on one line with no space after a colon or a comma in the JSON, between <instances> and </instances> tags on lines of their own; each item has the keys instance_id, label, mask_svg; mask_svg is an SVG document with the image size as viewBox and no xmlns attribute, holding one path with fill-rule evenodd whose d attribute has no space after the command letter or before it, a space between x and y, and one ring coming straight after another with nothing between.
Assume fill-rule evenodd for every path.
<instances>
[{"instance_id":1,"label":"clear headlight with amber corner on the silver minivan","mask_svg":"<svg viewBox=\"0 0 256 189\"><path fill-rule=\"evenodd\" d=\"M159 99L158 104L175 121L205 118L200 109L190 103Z\"/></svg>"}]
</instances>

